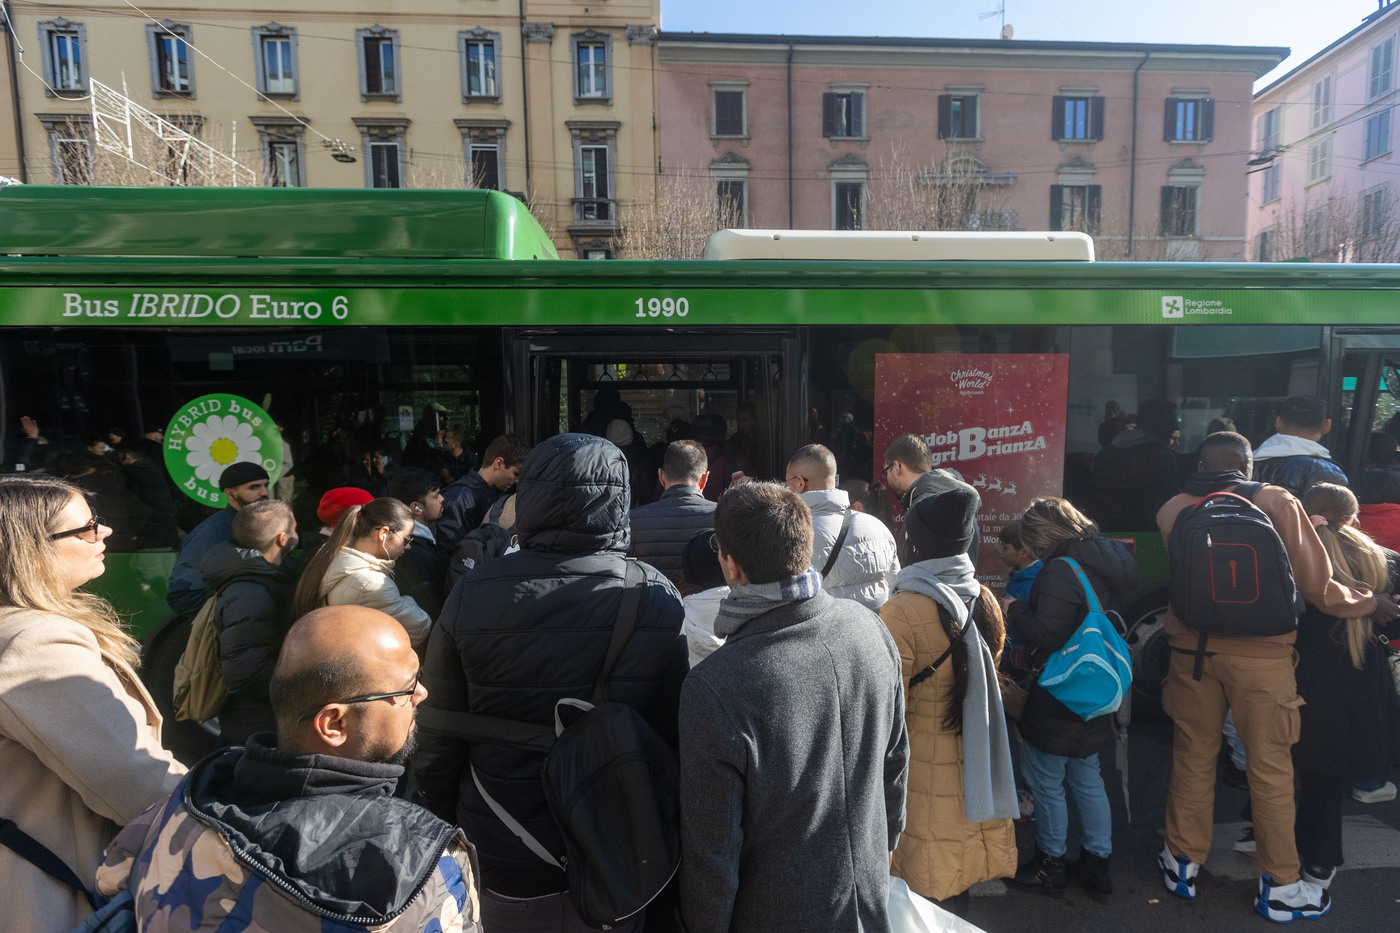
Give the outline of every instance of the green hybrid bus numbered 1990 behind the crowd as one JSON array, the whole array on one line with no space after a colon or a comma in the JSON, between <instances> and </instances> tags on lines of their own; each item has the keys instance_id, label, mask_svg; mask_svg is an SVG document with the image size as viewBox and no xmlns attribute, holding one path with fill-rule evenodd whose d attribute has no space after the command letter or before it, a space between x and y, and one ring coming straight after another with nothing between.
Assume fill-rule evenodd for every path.
<instances>
[{"instance_id":1,"label":"green hybrid bus numbered 1990 behind the crowd","mask_svg":"<svg viewBox=\"0 0 1400 933\"><path fill-rule=\"evenodd\" d=\"M1063 493L1134 542L1144 586L1121 609L1154 699L1165 559L1141 507L1158 493L1102 518L1121 504L1106 489L1124 499L1121 476L1095 474L1113 430L1169 403L1179 436L1158 440L1184 469L1212 420L1257 444L1278 399L1319 395L1355 476L1400 392L1400 268L1095 263L1074 234L727 231L707 255L559 261L498 192L0 188L6 464L22 416L50 444L141 436L210 394L281 424L288 488L312 509L344 475L337 452L353 468L372 437L393 459L430 412L480 452L580 430L608 399L641 447L704 417L728 466L781 479L820 441L867 482L904 424L995 499L984 541L1008 506ZM993 382L1005 424L955 423ZM1035 447L1025 431L1042 450L1015 482L966 462ZM188 502L179 524L207 514ZM183 647L172 563L112 553L99 581L153 679Z\"/></svg>"}]
</instances>

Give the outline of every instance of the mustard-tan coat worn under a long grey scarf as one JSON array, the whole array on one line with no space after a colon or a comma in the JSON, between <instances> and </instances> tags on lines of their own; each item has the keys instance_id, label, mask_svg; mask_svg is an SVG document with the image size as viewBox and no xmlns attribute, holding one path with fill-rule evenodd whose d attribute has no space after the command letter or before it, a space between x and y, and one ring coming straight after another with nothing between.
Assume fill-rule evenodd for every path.
<instances>
[{"instance_id":1,"label":"mustard-tan coat worn under a long grey scarf","mask_svg":"<svg viewBox=\"0 0 1400 933\"><path fill-rule=\"evenodd\" d=\"M983 598L990 598L983 590ZM879 611L899 646L904 686L948 650L938 604L917 593L896 593ZM993 654L1001 653L993 644ZM925 898L946 899L979 881L1016 873L1016 834L1011 820L967 822L963 810L962 734L948 731L944 714L953 689L946 660L932 677L907 691L909 796L904 834L890 873Z\"/></svg>"}]
</instances>

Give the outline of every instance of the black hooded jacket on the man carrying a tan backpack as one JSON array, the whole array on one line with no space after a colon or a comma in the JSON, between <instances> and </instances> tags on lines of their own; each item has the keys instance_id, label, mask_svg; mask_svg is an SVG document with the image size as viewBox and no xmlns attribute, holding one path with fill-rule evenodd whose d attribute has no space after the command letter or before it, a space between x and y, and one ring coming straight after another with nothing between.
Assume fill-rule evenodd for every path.
<instances>
[{"instance_id":1,"label":"black hooded jacket on the man carrying a tan backpack","mask_svg":"<svg viewBox=\"0 0 1400 933\"><path fill-rule=\"evenodd\" d=\"M204 586L220 594L214 626L228 699L218 712L218 726L224 738L241 745L249 735L277 727L267 684L291 628L297 576L291 566L272 565L260 552L231 541L204 555L200 573Z\"/></svg>"}]
</instances>

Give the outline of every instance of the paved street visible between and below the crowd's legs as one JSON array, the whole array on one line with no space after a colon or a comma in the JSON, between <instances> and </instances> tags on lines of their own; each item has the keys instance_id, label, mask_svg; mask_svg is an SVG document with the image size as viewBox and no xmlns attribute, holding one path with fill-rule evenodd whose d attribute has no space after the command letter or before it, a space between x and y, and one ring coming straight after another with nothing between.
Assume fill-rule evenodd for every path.
<instances>
[{"instance_id":1,"label":"paved street visible between and below the crowd's legs","mask_svg":"<svg viewBox=\"0 0 1400 933\"><path fill-rule=\"evenodd\" d=\"M1112 765L1112 751L1103 758ZM988 933L1238 933L1271 929L1253 911L1257 870L1253 859L1232 849L1239 838L1245 794L1215 786L1215 848L1201 871L1196 901L1172 897L1156 871L1162 814L1172 769L1172 734L1166 723L1134 724L1130 742L1133 822L1123 814L1119 775L1105 769L1113 803L1113 884L1109 904L1096 904L1071 883L1064 898L1008 890L991 883L974 890L969 919ZM1400 929L1400 803L1358 804L1345 810L1347 864L1331 885L1331 913L1303 929L1326 933L1380 933ZM1070 850L1078 850L1071 820ZM1033 828L1018 824L1022 860L1032 852ZM1298 922L1303 923L1303 922Z\"/></svg>"}]
</instances>

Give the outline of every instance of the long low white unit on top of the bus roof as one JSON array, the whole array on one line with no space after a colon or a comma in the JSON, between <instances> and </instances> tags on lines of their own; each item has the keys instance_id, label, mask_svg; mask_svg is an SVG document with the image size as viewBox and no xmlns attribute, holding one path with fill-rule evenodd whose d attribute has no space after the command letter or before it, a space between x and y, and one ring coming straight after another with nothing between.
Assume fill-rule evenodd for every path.
<instances>
[{"instance_id":1,"label":"long low white unit on top of the bus roof","mask_svg":"<svg viewBox=\"0 0 1400 933\"><path fill-rule=\"evenodd\" d=\"M918 233L876 230L721 230L706 259L1093 262L1082 233Z\"/></svg>"}]
</instances>

